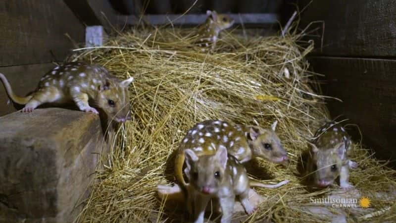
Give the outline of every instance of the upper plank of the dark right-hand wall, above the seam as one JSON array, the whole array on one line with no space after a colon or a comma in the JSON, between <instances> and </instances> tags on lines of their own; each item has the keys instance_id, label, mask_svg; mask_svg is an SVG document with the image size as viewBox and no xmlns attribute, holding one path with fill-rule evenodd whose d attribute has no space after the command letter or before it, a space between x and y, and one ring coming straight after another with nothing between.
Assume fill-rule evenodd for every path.
<instances>
[{"instance_id":1,"label":"upper plank of the dark right-hand wall, above the seam","mask_svg":"<svg viewBox=\"0 0 396 223\"><path fill-rule=\"evenodd\" d=\"M310 1L301 0L300 8ZM324 36L321 49L323 24L309 29L319 29L306 36L315 41L312 55L396 56L394 0L313 0L301 15L300 28L313 21L324 21Z\"/></svg>"}]
</instances>

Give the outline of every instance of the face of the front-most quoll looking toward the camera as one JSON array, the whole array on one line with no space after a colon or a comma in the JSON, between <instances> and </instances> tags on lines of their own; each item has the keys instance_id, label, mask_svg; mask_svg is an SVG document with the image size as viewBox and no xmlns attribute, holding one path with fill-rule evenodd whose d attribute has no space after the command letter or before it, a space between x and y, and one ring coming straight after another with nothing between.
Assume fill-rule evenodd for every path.
<instances>
[{"instance_id":1,"label":"face of the front-most quoll looking toward the camera","mask_svg":"<svg viewBox=\"0 0 396 223\"><path fill-rule=\"evenodd\" d=\"M214 155L198 156L187 149L185 173L193 187L202 194L215 194L221 186L227 164L227 149L217 150Z\"/></svg>"}]
</instances>

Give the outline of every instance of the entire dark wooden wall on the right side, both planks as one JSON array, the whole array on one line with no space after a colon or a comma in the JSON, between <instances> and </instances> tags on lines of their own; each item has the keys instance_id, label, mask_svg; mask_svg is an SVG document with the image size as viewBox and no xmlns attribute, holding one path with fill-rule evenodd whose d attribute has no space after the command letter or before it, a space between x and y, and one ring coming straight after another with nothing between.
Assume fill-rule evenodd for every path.
<instances>
[{"instance_id":1,"label":"entire dark wooden wall on the right side, both planks","mask_svg":"<svg viewBox=\"0 0 396 223\"><path fill-rule=\"evenodd\" d=\"M301 0L300 8L310 0ZM394 0L313 0L300 27L312 21L313 70L325 74L323 90L334 117L359 125L363 143L396 166L396 5ZM323 40L320 38L324 27ZM355 139L360 135L351 127Z\"/></svg>"}]
</instances>

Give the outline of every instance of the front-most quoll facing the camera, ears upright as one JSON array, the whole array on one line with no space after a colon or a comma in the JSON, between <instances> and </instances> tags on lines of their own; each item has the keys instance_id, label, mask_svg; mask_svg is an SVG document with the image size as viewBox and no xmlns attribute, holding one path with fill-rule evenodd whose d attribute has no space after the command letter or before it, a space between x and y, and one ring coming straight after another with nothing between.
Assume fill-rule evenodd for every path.
<instances>
[{"instance_id":1,"label":"front-most quoll facing the camera, ears upright","mask_svg":"<svg viewBox=\"0 0 396 223\"><path fill-rule=\"evenodd\" d=\"M249 178L245 167L220 146L215 154L197 156L193 150L184 151L186 157L185 174L190 181L188 207L195 223L203 223L204 212L211 198L218 199L221 207L222 223L231 221L236 196L239 197L247 214L255 208L248 199Z\"/></svg>"}]
</instances>

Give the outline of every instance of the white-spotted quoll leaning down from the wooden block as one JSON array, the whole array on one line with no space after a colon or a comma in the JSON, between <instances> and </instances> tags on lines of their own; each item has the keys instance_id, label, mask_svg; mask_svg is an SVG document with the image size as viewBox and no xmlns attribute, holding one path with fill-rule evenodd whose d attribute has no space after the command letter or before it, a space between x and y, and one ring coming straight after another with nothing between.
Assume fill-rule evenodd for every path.
<instances>
[{"instance_id":1,"label":"white-spotted quoll leaning down from the wooden block","mask_svg":"<svg viewBox=\"0 0 396 223\"><path fill-rule=\"evenodd\" d=\"M92 100L94 106L117 122L131 119L128 85L134 78L121 81L99 65L69 62L56 66L41 78L35 92L27 97L15 95L8 80L1 73L0 79L10 99L25 105L23 112L32 112L45 103L74 102L81 111L98 114L88 103Z\"/></svg>"}]
</instances>

